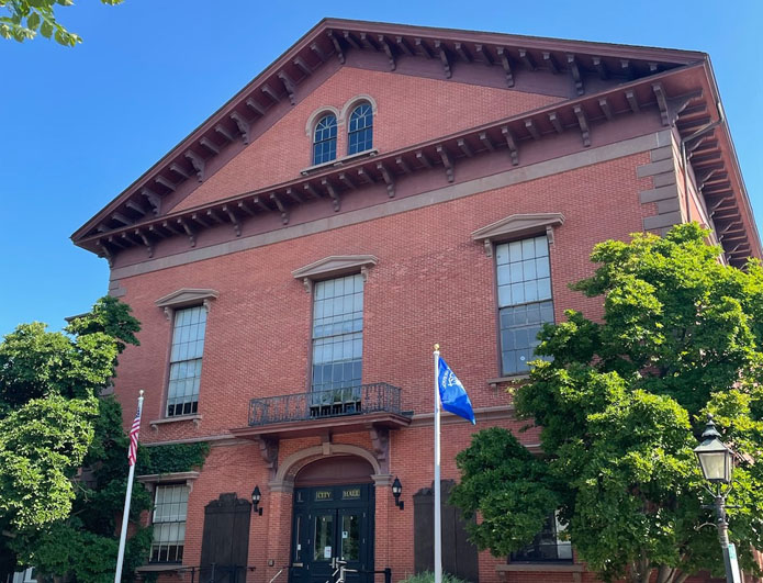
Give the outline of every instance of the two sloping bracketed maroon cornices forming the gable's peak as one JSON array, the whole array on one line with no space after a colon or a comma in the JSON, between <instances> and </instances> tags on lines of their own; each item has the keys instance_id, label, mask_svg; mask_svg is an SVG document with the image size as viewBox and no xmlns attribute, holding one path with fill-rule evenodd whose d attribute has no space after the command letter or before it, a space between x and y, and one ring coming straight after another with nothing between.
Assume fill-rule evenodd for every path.
<instances>
[{"instance_id":1,"label":"two sloping bracketed maroon cornices forming the gable's peak","mask_svg":"<svg viewBox=\"0 0 763 583\"><path fill-rule=\"evenodd\" d=\"M630 81L707 60L707 55L687 51L324 19L79 228L72 239L78 242L93 229L111 229L114 221L127 221L125 224L132 226L148 214L158 214L162 197L191 177L206 180L210 160L226 150L233 152L232 148L243 149L261 120L272 122L289 111L282 103L294 105L304 99L304 81L333 58L344 65L347 54L354 51L385 54L391 70L401 57L439 57L446 79L452 77L452 65L459 60L500 67L505 72L506 87L514 86L513 68L523 63L529 70L566 71L579 94L584 91L582 74Z\"/></svg>"}]
</instances>

